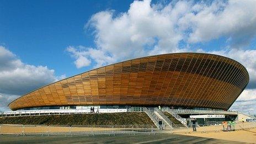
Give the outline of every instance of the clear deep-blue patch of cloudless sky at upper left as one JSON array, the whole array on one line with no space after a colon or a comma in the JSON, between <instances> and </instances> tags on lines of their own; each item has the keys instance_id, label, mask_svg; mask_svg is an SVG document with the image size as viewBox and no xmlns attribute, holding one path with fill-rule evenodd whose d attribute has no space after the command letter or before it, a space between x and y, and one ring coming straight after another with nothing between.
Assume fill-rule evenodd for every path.
<instances>
[{"instance_id":1,"label":"clear deep-blue patch of cloudless sky at upper left","mask_svg":"<svg viewBox=\"0 0 256 144\"><path fill-rule=\"evenodd\" d=\"M65 49L69 45L94 46L84 24L106 9L125 12L131 1L1 1L0 44L24 63L48 66L56 75L83 72ZM63 65L65 63L65 65Z\"/></svg>"}]
</instances>

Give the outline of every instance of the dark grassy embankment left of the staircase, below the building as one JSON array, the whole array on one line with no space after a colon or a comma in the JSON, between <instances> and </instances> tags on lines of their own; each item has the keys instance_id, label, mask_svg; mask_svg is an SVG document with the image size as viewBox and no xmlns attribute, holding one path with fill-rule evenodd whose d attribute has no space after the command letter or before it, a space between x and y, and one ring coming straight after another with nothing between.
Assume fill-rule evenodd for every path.
<instances>
[{"instance_id":1,"label":"dark grassy embankment left of the staircase, below the building","mask_svg":"<svg viewBox=\"0 0 256 144\"><path fill-rule=\"evenodd\" d=\"M0 118L0 124L23 125L154 125L146 113L41 115Z\"/></svg>"}]
</instances>

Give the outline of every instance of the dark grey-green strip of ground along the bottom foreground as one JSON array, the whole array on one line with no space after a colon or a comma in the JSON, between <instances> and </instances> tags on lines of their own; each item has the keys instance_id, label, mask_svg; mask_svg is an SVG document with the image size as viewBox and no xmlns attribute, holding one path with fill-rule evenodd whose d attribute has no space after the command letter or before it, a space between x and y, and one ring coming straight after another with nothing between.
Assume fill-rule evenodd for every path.
<instances>
[{"instance_id":1,"label":"dark grey-green strip of ground along the bottom foreground","mask_svg":"<svg viewBox=\"0 0 256 144\"><path fill-rule=\"evenodd\" d=\"M96 136L14 136L0 135L0 143L242 143L215 138L173 134Z\"/></svg>"}]
</instances>

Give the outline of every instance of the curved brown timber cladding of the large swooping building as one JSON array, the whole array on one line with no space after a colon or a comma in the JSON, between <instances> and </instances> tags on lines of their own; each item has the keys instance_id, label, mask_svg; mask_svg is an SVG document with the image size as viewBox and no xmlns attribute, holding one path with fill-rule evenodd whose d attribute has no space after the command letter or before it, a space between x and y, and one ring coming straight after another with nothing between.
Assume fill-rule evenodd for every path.
<instances>
[{"instance_id":1,"label":"curved brown timber cladding of the large swooping building","mask_svg":"<svg viewBox=\"0 0 256 144\"><path fill-rule=\"evenodd\" d=\"M136 58L23 95L12 110L61 105L171 105L228 109L249 82L240 63L198 53Z\"/></svg>"}]
</instances>

